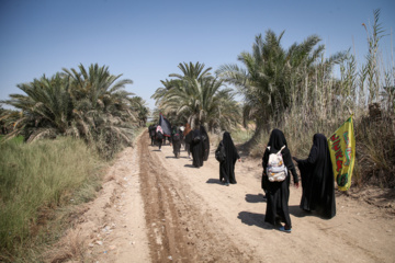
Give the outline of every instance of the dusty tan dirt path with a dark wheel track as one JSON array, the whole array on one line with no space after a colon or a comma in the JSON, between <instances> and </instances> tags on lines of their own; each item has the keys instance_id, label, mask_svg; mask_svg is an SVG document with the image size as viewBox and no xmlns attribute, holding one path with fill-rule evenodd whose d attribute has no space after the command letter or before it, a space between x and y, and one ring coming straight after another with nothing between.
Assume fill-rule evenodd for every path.
<instances>
[{"instance_id":1,"label":"dusty tan dirt path with a dark wheel track","mask_svg":"<svg viewBox=\"0 0 395 263\"><path fill-rule=\"evenodd\" d=\"M218 181L212 152L195 169L144 133L110 169L100 196L75 232L86 262L394 262L394 192L337 193L330 220L298 208L291 188L292 233L264 222L259 160L236 163L236 185ZM369 201L371 204L366 203Z\"/></svg>"}]
</instances>

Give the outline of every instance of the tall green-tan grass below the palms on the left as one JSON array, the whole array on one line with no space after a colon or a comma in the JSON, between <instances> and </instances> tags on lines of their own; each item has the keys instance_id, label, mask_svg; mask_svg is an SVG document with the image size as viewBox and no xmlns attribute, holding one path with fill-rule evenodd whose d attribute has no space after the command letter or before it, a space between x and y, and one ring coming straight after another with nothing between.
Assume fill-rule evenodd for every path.
<instances>
[{"instance_id":1,"label":"tall green-tan grass below the palms on the left","mask_svg":"<svg viewBox=\"0 0 395 263\"><path fill-rule=\"evenodd\" d=\"M13 261L49 210L93 198L103 165L79 139L0 144L0 261Z\"/></svg>"}]
</instances>

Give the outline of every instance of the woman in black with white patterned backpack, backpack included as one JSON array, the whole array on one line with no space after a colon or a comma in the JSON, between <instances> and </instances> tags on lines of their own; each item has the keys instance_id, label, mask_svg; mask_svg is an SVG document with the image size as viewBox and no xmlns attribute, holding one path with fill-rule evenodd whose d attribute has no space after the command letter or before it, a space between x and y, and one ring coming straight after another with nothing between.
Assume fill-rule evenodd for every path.
<instances>
[{"instance_id":1,"label":"woman in black with white patterned backpack, backpack included","mask_svg":"<svg viewBox=\"0 0 395 263\"><path fill-rule=\"evenodd\" d=\"M278 162L269 162L269 159ZM298 178L292 162L291 151L286 146L285 136L280 129L273 129L270 135L268 148L262 158L262 186L266 187L267 193L264 221L273 226L281 225L281 221L283 221L285 225L281 226L279 230L291 232L292 224L289 210L290 172L293 175L296 188L298 187Z\"/></svg>"}]
</instances>

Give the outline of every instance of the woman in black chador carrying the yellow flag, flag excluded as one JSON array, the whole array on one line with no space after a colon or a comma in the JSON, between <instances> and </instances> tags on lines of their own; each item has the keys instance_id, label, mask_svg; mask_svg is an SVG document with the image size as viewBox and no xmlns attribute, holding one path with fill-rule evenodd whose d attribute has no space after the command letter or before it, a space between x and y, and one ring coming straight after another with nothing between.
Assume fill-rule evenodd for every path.
<instances>
[{"instance_id":1,"label":"woman in black chador carrying the yellow flag, flag excluded","mask_svg":"<svg viewBox=\"0 0 395 263\"><path fill-rule=\"evenodd\" d=\"M332 218L336 215L335 180L327 138L315 134L308 158L294 160L302 178L301 208Z\"/></svg>"}]
</instances>

